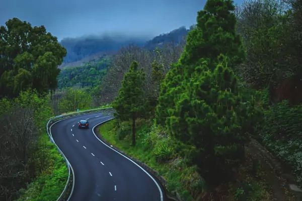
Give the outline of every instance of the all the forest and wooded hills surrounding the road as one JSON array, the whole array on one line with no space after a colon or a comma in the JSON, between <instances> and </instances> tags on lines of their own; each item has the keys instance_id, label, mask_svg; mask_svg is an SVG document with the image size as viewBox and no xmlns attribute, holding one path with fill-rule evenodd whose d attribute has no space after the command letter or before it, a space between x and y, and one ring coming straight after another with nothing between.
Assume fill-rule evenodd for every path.
<instances>
[{"instance_id":1,"label":"all the forest and wooded hills surrounding the road","mask_svg":"<svg viewBox=\"0 0 302 201\"><path fill-rule=\"evenodd\" d=\"M116 114L101 137L158 172L175 199L297 200L288 184L302 185L301 36L301 0L207 0L190 30L147 43L58 43L43 26L9 20L0 200L56 200L67 168L47 120L105 104Z\"/></svg>"}]
</instances>

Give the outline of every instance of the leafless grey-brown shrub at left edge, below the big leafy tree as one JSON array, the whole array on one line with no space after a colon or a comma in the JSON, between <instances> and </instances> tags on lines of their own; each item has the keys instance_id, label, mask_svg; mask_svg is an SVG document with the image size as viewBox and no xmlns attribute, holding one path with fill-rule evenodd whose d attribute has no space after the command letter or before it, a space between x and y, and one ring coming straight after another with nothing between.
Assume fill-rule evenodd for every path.
<instances>
[{"instance_id":1,"label":"leafless grey-brown shrub at left edge, below the big leafy tree","mask_svg":"<svg viewBox=\"0 0 302 201\"><path fill-rule=\"evenodd\" d=\"M0 199L12 200L31 174L29 160L36 149L33 111L17 108L0 118Z\"/></svg>"}]
</instances>

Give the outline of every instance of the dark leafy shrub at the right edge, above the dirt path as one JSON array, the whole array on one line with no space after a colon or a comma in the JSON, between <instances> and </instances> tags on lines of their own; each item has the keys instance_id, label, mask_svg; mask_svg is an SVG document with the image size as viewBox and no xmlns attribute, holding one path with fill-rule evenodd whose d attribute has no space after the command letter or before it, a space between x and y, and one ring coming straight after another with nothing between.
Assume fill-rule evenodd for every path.
<instances>
[{"instance_id":1,"label":"dark leafy shrub at the right edge, above the dirt path","mask_svg":"<svg viewBox=\"0 0 302 201\"><path fill-rule=\"evenodd\" d=\"M257 126L263 143L286 162L302 183L302 105L291 106L283 101L265 111Z\"/></svg>"}]
</instances>

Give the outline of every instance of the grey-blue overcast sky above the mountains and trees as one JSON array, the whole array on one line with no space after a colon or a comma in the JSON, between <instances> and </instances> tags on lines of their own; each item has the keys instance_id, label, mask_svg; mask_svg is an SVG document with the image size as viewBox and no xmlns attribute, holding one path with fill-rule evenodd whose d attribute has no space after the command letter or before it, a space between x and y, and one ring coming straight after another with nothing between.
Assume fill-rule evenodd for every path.
<instances>
[{"instance_id":1,"label":"grey-blue overcast sky above the mountains and trees","mask_svg":"<svg viewBox=\"0 0 302 201\"><path fill-rule=\"evenodd\" d=\"M238 3L241 0L236 0ZM17 17L59 40L119 33L153 37L196 22L205 0L0 0L0 25Z\"/></svg>"}]
</instances>

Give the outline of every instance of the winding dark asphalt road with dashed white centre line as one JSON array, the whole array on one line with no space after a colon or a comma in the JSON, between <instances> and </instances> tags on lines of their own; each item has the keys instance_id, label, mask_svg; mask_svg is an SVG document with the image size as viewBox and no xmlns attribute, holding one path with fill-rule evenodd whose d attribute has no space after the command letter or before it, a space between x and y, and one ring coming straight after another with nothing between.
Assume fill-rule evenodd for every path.
<instances>
[{"instance_id":1,"label":"winding dark asphalt road with dashed white centre line","mask_svg":"<svg viewBox=\"0 0 302 201\"><path fill-rule=\"evenodd\" d=\"M111 118L93 113L51 126L54 142L74 171L70 200L161 201L162 190L154 178L96 138L92 129ZM85 119L90 128L79 129L78 122Z\"/></svg>"}]
</instances>

